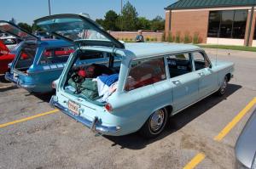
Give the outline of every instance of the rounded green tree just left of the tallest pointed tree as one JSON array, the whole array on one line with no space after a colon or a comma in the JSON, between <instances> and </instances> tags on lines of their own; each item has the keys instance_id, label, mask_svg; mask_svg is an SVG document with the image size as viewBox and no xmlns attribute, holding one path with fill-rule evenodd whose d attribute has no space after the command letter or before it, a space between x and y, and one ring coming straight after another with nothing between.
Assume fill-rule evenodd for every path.
<instances>
[{"instance_id":1,"label":"rounded green tree just left of the tallest pointed tree","mask_svg":"<svg viewBox=\"0 0 256 169\"><path fill-rule=\"evenodd\" d=\"M105 14L105 20L103 21L103 27L108 31L118 31L117 20L119 15L116 14L113 10L109 10Z\"/></svg>"}]
</instances>

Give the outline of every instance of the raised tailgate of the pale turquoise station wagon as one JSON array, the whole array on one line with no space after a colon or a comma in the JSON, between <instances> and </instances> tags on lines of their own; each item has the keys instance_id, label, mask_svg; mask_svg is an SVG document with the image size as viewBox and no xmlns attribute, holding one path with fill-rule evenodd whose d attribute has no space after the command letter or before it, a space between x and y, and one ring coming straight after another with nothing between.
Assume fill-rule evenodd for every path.
<instances>
[{"instance_id":1,"label":"raised tailgate of the pale turquoise station wagon","mask_svg":"<svg viewBox=\"0 0 256 169\"><path fill-rule=\"evenodd\" d=\"M79 46L125 48L123 43L82 14L55 14L34 20L34 22L51 35Z\"/></svg>"}]
</instances>

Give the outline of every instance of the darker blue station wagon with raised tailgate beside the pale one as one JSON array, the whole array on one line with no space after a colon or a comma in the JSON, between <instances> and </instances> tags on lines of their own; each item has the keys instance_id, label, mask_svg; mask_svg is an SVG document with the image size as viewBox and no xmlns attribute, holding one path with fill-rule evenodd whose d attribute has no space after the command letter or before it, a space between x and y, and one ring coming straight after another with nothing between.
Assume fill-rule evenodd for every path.
<instances>
[{"instance_id":1,"label":"darker blue station wagon with raised tailgate beside the pale one","mask_svg":"<svg viewBox=\"0 0 256 169\"><path fill-rule=\"evenodd\" d=\"M51 84L60 75L67 59L73 53L73 45L63 40L40 40L7 21L0 21L0 31L10 32L24 41L17 49L6 80L32 93L48 93Z\"/></svg>"}]
</instances>

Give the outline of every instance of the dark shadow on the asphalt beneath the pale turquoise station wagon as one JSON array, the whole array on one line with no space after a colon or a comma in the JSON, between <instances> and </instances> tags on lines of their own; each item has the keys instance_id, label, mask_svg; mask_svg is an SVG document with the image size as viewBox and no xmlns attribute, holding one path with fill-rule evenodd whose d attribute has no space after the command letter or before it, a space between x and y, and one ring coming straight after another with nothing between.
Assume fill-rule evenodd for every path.
<instances>
[{"instance_id":1,"label":"dark shadow on the asphalt beneath the pale turquoise station wagon","mask_svg":"<svg viewBox=\"0 0 256 169\"><path fill-rule=\"evenodd\" d=\"M185 127L190 121L193 121L196 117L204 114L207 110L210 110L216 104L219 104L224 99L227 99L231 94L239 90L241 86L236 84L229 84L226 93L223 97L218 97L215 94L202 99L200 102L190 106L189 108L181 111L177 115L173 115L170 118L169 123L166 126L164 132L160 134L158 138L146 139L140 136L137 132L126 136L113 137L104 136L113 142L112 146L119 145L121 149L143 149L148 144L154 143L154 141L165 138L166 136L176 132L177 130Z\"/></svg>"}]
</instances>

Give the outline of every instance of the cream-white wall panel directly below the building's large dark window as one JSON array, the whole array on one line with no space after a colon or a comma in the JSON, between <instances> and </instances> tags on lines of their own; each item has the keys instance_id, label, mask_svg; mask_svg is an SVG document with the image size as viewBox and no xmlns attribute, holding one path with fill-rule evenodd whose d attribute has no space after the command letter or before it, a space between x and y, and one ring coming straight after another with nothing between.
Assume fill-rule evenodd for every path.
<instances>
[{"instance_id":1,"label":"cream-white wall panel directly below the building's large dark window","mask_svg":"<svg viewBox=\"0 0 256 169\"><path fill-rule=\"evenodd\" d=\"M207 37L207 44L244 46L244 39Z\"/></svg>"}]
</instances>

